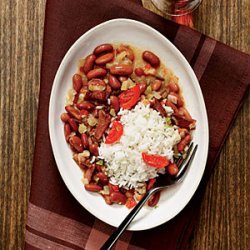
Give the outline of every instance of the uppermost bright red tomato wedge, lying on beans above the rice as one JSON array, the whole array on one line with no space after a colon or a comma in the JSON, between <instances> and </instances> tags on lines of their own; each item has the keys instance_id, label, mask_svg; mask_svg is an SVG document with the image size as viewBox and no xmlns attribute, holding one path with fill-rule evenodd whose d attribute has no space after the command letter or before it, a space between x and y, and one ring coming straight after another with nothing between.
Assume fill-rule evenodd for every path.
<instances>
[{"instance_id":1,"label":"uppermost bright red tomato wedge, lying on beans above the rice","mask_svg":"<svg viewBox=\"0 0 250 250\"><path fill-rule=\"evenodd\" d=\"M137 84L133 88L122 92L119 95L120 106L123 109L131 109L138 102L140 97L140 85Z\"/></svg>"}]
</instances>

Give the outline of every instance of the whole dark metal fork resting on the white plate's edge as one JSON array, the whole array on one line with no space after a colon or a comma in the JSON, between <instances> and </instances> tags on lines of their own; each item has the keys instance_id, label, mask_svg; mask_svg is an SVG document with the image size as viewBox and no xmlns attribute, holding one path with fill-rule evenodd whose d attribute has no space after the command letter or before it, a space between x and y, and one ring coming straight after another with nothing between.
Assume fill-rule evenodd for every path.
<instances>
[{"instance_id":1,"label":"whole dark metal fork resting on the white plate's edge","mask_svg":"<svg viewBox=\"0 0 250 250\"><path fill-rule=\"evenodd\" d=\"M179 167L179 171L175 176L170 176L168 174L160 175L157 177L157 181L155 183L155 187L150 189L145 196L137 203L137 205L133 208L133 210L127 215L127 217L123 220L123 222L120 224L120 226L113 232L113 234L108 238L108 240L103 244L103 246L100 248L101 250L109 250L112 248L112 246L116 243L120 235L123 233L123 231L129 226L131 221L134 219L134 217L137 215L137 213L141 210L143 205L146 203L146 201L150 198L150 196L157 191L160 191L162 189L165 189L171 185L180 183L185 176L186 170L191 165L193 158L195 156L195 153L197 151L198 145L195 145L193 149L194 144L191 143L187 153L184 157L180 157L176 164Z\"/></svg>"}]
</instances>

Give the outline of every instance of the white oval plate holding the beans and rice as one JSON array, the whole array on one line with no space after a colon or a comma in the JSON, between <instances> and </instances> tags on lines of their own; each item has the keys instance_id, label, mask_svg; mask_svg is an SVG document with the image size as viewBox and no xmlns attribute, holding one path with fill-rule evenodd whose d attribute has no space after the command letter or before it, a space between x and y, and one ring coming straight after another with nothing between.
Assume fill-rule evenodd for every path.
<instances>
[{"instance_id":1,"label":"white oval plate holding the beans and rice","mask_svg":"<svg viewBox=\"0 0 250 250\"><path fill-rule=\"evenodd\" d=\"M117 227L129 210L125 206L106 205L99 194L87 192L82 184L82 171L72 159L65 142L60 114L64 111L67 90L80 58L90 54L102 43L131 43L160 56L161 61L179 77L187 108L197 120L194 142L199 145L185 180L164 190L157 208L143 207L129 230L144 230L158 226L176 216L189 202L202 178L208 152L208 122L198 80L184 56L158 31L130 19L114 19L83 34L69 49L57 71L49 106L49 133L59 172L78 202L100 220Z\"/></svg>"}]
</instances>

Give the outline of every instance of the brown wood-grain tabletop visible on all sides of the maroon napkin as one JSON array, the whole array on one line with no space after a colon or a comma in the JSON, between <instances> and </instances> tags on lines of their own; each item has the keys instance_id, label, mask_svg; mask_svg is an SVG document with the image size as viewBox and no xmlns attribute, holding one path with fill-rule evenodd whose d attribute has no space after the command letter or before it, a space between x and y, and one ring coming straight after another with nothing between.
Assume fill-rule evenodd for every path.
<instances>
[{"instance_id":1,"label":"brown wood-grain tabletop visible on all sides of the maroon napkin","mask_svg":"<svg viewBox=\"0 0 250 250\"><path fill-rule=\"evenodd\" d=\"M0 1L0 249L24 247L45 2ZM249 0L203 0L195 26L250 53L249 16ZM248 96L207 185L190 249L249 249L249 106Z\"/></svg>"}]
</instances>

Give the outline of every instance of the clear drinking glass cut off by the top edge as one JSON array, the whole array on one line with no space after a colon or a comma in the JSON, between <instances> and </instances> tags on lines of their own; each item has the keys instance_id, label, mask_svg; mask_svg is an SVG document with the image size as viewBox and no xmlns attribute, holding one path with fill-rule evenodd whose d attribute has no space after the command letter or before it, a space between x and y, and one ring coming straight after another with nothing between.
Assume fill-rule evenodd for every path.
<instances>
[{"instance_id":1,"label":"clear drinking glass cut off by the top edge","mask_svg":"<svg viewBox=\"0 0 250 250\"><path fill-rule=\"evenodd\" d=\"M182 16L194 11L201 0L151 0L162 13L169 16Z\"/></svg>"}]
</instances>

